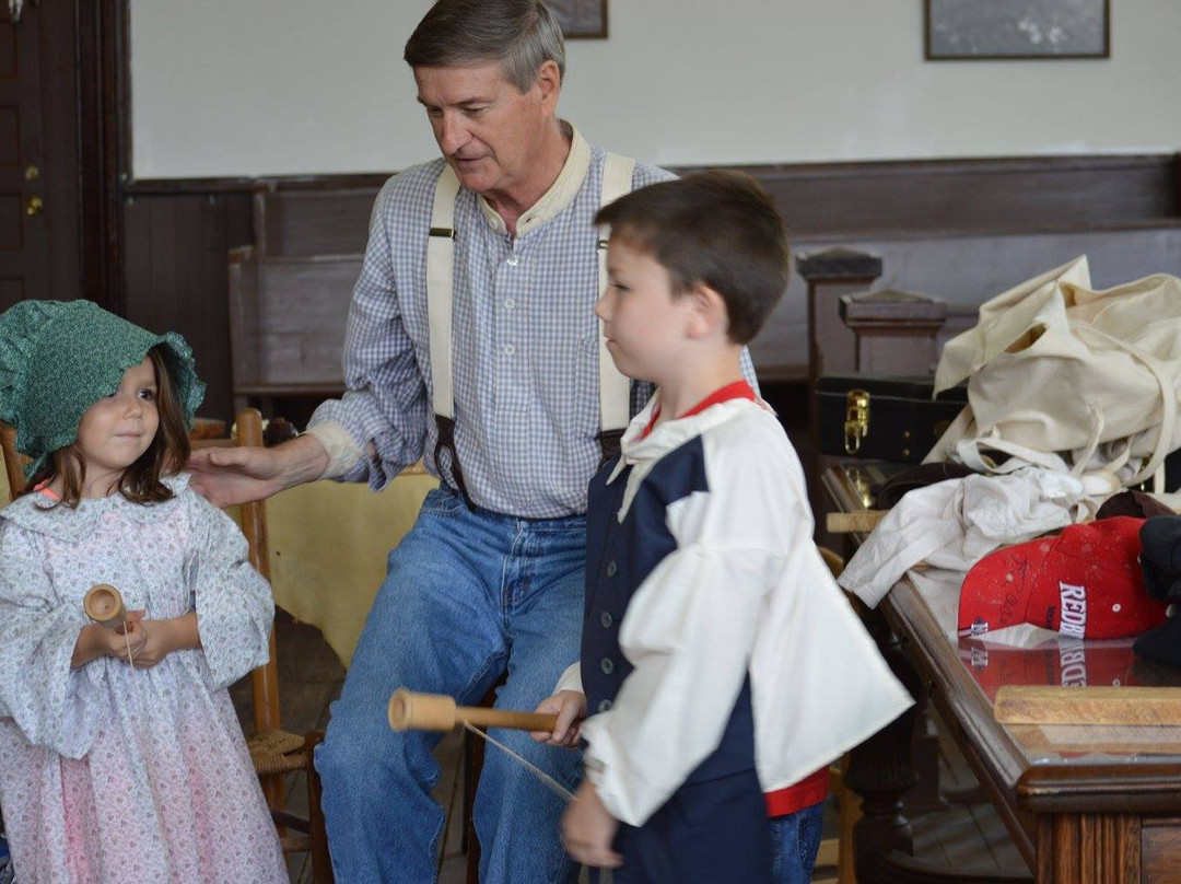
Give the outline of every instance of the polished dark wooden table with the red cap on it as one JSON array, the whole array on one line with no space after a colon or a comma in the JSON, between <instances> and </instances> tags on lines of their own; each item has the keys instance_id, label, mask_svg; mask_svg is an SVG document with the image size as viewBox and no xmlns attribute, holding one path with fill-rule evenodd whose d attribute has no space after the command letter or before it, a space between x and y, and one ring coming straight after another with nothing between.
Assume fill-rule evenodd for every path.
<instances>
[{"instance_id":1,"label":"polished dark wooden table with the red cap on it","mask_svg":"<svg viewBox=\"0 0 1181 884\"><path fill-rule=\"evenodd\" d=\"M823 476L842 512L867 508L873 464ZM1181 685L1181 669L1135 657L1130 641L1066 641L1032 649L960 639L960 576L908 573L869 612L883 654L952 730L1038 884L1181 884L1181 728L1004 726L1000 684ZM905 722L853 753L847 782L863 798L857 876L932 882L909 853L901 797L915 778ZM951 879L970 879L971 876ZM979 878L978 878L979 880Z\"/></svg>"}]
</instances>

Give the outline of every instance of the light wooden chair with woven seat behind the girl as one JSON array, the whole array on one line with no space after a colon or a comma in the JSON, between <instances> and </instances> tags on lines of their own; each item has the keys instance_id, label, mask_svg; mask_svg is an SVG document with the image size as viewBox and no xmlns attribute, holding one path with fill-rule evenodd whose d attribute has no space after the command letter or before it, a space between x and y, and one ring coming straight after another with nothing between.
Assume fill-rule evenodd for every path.
<instances>
[{"instance_id":1,"label":"light wooden chair with woven seat behind the girl","mask_svg":"<svg viewBox=\"0 0 1181 884\"><path fill-rule=\"evenodd\" d=\"M24 467L28 459L17 453L17 433L0 425L0 446L4 450L5 470L8 479L9 498L15 498L25 486ZM262 446L262 418L255 409L243 409L237 415L237 444ZM196 440L194 448L234 444L233 440ZM256 501L241 506L242 533L249 545L250 564L270 579L267 550L266 503ZM270 806L270 815L279 828L285 853L308 853L312 860L313 884L332 884L332 865L328 857L328 838L320 811L320 778L312 763L312 753L324 739L322 732L305 736L280 729L279 715L279 664L275 651L275 633L270 632L270 659L252 672L254 696L254 733L247 737L250 760L262 784L263 794ZM296 771L307 774L308 817L304 819L286 810L283 776ZM287 830L292 830L288 832ZM294 833L293 833L294 832Z\"/></svg>"}]
</instances>

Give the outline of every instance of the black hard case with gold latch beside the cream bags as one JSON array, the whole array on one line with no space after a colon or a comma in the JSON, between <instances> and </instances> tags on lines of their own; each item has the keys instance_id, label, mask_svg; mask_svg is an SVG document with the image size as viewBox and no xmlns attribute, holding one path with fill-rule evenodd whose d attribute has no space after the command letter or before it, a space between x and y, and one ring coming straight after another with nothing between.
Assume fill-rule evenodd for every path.
<instances>
[{"instance_id":1,"label":"black hard case with gold latch beside the cream bags","mask_svg":"<svg viewBox=\"0 0 1181 884\"><path fill-rule=\"evenodd\" d=\"M920 463L967 404L966 384L932 399L934 382L934 377L925 375L868 372L817 378L821 454ZM859 420L862 403L867 405L868 423Z\"/></svg>"}]
</instances>

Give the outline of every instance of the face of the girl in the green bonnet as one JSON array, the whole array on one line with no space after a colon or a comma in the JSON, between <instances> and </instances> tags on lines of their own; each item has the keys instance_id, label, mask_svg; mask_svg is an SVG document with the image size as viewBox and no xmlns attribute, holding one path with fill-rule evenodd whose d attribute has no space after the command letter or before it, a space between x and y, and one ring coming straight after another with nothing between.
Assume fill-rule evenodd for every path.
<instances>
[{"instance_id":1,"label":"face of the girl in the green bonnet","mask_svg":"<svg viewBox=\"0 0 1181 884\"><path fill-rule=\"evenodd\" d=\"M99 399L78 424L77 449L86 463L86 485L99 496L148 450L159 427L156 369L144 358L123 372L119 389ZM94 496L84 492L84 496Z\"/></svg>"}]
</instances>

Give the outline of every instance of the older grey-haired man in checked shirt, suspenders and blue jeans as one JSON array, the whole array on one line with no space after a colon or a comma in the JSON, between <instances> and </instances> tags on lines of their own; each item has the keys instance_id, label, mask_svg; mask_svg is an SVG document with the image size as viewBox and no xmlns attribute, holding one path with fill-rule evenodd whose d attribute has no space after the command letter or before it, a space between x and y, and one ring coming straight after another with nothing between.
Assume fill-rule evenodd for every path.
<instances>
[{"instance_id":1,"label":"older grey-haired man in checked shirt, suspenders and blue jeans","mask_svg":"<svg viewBox=\"0 0 1181 884\"><path fill-rule=\"evenodd\" d=\"M340 884L435 878L437 737L390 730L394 688L471 703L507 672L496 704L533 709L579 656L587 481L648 392L600 359L592 217L668 177L557 117L565 47L536 0L439 0L405 59L443 160L378 195L348 317L348 392L293 442L194 463L221 503L322 477L379 489L423 456L442 480L390 554L317 754ZM497 736L575 784L575 753ZM561 810L490 752L475 802L482 880L573 879Z\"/></svg>"}]
</instances>

